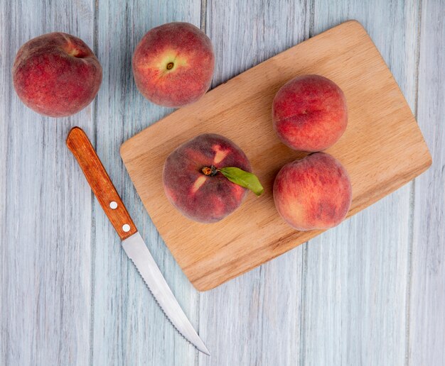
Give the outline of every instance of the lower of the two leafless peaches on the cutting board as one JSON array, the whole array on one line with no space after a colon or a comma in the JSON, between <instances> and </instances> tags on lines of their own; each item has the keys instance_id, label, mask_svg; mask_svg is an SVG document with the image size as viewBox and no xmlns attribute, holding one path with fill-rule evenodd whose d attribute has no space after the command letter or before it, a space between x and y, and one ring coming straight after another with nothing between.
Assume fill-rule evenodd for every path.
<instances>
[{"instance_id":1,"label":"lower of the two leafless peaches on the cutting board","mask_svg":"<svg viewBox=\"0 0 445 366\"><path fill-rule=\"evenodd\" d=\"M332 228L348 214L352 187L348 172L326 153L284 165L274 182L274 201L286 223L297 230Z\"/></svg>"}]
</instances>

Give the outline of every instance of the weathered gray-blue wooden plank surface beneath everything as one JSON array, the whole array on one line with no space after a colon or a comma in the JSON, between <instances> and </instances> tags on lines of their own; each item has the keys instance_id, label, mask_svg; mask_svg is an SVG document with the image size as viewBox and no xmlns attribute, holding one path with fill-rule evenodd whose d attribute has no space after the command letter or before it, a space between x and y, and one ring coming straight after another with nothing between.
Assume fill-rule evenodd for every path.
<instances>
[{"instance_id":1,"label":"weathered gray-blue wooden plank surface beneath everything","mask_svg":"<svg viewBox=\"0 0 445 366\"><path fill-rule=\"evenodd\" d=\"M0 0L0 365L445 365L445 4L441 0ZM139 200L119 145L171 113L132 79L137 41L188 21L213 40L213 87L357 19L395 75L432 167L309 243L210 292L193 289ZM60 30L94 50L97 99L70 118L11 87L26 40ZM65 136L81 126L212 355L156 306Z\"/></svg>"}]
</instances>

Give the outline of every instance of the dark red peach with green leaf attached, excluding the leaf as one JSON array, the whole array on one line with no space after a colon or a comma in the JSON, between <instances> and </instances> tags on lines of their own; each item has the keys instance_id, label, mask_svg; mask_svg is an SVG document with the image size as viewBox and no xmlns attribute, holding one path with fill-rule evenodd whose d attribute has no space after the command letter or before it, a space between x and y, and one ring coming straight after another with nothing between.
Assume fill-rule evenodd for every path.
<instances>
[{"instance_id":1,"label":"dark red peach with green leaf attached, excluding the leaf","mask_svg":"<svg viewBox=\"0 0 445 366\"><path fill-rule=\"evenodd\" d=\"M206 175L203 168L238 167L251 171L245 153L221 135L205 133L188 140L168 155L163 167L163 187L168 200L181 214L201 223L214 223L235 211L247 189L230 182L220 172Z\"/></svg>"}]
</instances>

